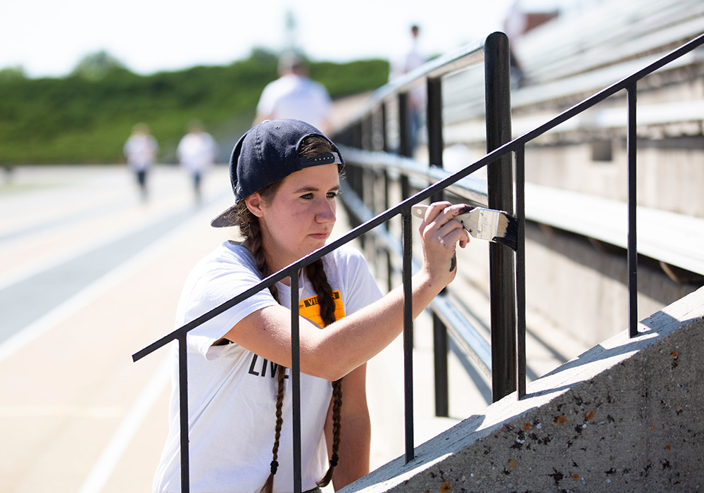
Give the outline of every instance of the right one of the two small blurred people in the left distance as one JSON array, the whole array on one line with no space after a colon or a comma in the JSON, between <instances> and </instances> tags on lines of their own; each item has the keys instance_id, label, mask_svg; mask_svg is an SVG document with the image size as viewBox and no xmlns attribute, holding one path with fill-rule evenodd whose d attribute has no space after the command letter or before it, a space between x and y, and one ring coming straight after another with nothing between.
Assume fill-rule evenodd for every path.
<instances>
[{"instance_id":1,"label":"right one of the two small blurred people in the left distance","mask_svg":"<svg viewBox=\"0 0 704 493\"><path fill-rule=\"evenodd\" d=\"M196 203L201 201L201 182L203 174L215 163L218 156L218 144L199 121L191 122L189 130L181 139L176 149L181 167L193 178L193 191Z\"/></svg>"}]
</instances>

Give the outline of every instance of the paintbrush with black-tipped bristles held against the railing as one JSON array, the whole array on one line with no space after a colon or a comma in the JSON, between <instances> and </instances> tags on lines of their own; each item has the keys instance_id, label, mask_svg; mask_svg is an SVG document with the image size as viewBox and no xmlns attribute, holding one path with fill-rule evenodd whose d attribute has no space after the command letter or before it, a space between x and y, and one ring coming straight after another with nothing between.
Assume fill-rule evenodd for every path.
<instances>
[{"instance_id":1,"label":"paintbrush with black-tipped bristles held against the railing","mask_svg":"<svg viewBox=\"0 0 704 493\"><path fill-rule=\"evenodd\" d=\"M425 204L415 204L410 213L417 218L425 218ZM474 238L505 244L510 249L518 247L518 220L508 212L484 207L465 206L455 216L460 224Z\"/></svg>"}]
</instances>

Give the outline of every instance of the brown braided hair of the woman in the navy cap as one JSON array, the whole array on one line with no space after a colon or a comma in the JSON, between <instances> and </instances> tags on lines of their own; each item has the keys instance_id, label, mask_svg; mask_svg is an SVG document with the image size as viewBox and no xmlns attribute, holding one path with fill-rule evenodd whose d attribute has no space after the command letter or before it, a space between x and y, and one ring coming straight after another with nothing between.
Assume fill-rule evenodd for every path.
<instances>
[{"instance_id":1,"label":"brown braided hair of the woman in the navy cap","mask_svg":"<svg viewBox=\"0 0 704 493\"><path fill-rule=\"evenodd\" d=\"M332 145L329 144L327 139L317 137L315 135L303 139L301 143L301 149L298 154L301 157L311 158L324 154L326 152L334 151ZM272 185L268 185L259 191L260 196L264 201L271 201L276 194L281 181L275 182ZM262 244L262 233L259 220L256 216L249 211L244 200L237 204L237 208L233 211L234 223L239 226L239 232L242 237L244 237L243 245L246 249L249 249L251 254L254 256L256 267L261 273L262 277L268 277L272 274L266 262L264 255L264 249ZM320 306L320 318L325 326L333 323L335 321L335 301L332 297L332 287L330 287L327 280L327 275L325 274L325 269L323 268L322 258L318 258L315 262L309 264L304 268L303 272L310 281L310 284L315 290L315 294L318 295L318 306ZM279 292L276 285L272 285L270 288L272 296L279 301ZM280 301L279 301L280 302ZM272 461L270 464L270 473L265 481L260 493L272 493L274 486L274 475L276 474L279 463L277 462L278 451L279 451L279 437L281 436L281 428L283 423L282 418L282 406L284 403L284 374L285 368L283 366L278 367L277 370L277 397L276 397L276 425L274 431L274 446L272 447ZM332 457L330 458L330 466L327 473L323 478L318 481L318 486L325 487L332 480L332 473L339 457L337 451L340 446L340 411L342 408L342 379L335 380L332 382Z\"/></svg>"}]
</instances>

